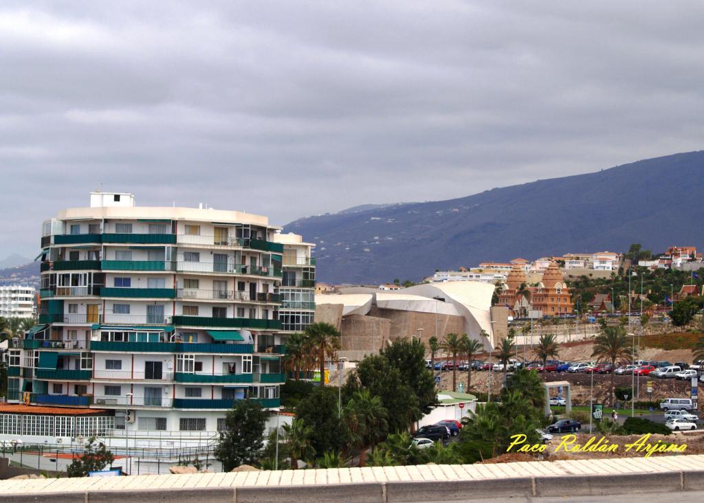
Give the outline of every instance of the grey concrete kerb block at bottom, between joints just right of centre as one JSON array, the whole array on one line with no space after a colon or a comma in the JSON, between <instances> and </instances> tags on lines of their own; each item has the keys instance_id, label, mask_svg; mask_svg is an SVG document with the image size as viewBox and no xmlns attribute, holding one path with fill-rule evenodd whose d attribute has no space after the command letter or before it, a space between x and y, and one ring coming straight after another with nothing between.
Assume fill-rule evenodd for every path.
<instances>
[{"instance_id":1,"label":"grey concrete kerb block at bottom, between joints just right of centre","mask_svg":"<svg viewBox=\"0 0 704 503\"><path fill-rule=\"evenodd\" d=\"M458 501L532 495L532 479L529 477L386 483L386 501L389 503Z\"/></svg>"}]
</instances>

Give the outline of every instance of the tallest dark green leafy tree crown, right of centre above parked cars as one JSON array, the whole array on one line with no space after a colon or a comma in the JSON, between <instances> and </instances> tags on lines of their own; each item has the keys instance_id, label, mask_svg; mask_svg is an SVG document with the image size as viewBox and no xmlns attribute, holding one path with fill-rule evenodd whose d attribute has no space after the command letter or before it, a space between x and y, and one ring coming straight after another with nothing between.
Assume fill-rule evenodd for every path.
<instances>
[{"instance_id":1,"label":"tallest dark green leafy tree crown, right of centre above parked cars","mask_svg":"<svg viewBox=\"0 0 704 503\"><path fill-rule=\"evenodd\" d=\"M420 340L396 339L381 352L398 369L418 399L421 414L429 414L437 402L435 381L425 370L425 346Z\"/></svg>"}]
</instances>

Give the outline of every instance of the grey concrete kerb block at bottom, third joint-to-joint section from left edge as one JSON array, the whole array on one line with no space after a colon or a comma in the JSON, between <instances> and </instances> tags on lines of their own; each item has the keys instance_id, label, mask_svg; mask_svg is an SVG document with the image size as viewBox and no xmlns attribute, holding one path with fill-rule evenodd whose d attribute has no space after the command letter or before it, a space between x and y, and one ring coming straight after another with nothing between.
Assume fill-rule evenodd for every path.
<instances>
[{"instance_id":1,"label":"grey concrete kerb block at bottom, third joint-to-joint section from left edge","mask_svg":"<svg viewBox=\"0 0 704 503\"><path fill-rule=\"evenodd\" d=\"M184 499L189 501L189 499ZM279 485L248 486L237 488L237 503L382 503L382 483L329 484L329 485Z\"/></svg>"}]
</instances>

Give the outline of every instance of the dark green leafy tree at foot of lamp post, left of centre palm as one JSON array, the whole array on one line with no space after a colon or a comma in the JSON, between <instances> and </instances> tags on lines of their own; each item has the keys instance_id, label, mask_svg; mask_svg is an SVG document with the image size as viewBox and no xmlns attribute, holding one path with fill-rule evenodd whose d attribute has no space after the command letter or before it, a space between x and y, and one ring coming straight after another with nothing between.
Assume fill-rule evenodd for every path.
<instances>
[{"instance_id":1,"label":"dark green leafy tree at foot of lamp post, left of centre palm","mask_svg":"<svg viewBox=\"0 0 704 503\"><path fill-rule=\"evenodd\" d=\"M337 388L316 386L296 406L296 417L315 432L311 439L315 452L342 452L348 447L348 431L338 416L337 394Z\"/></svg>"}]
</instances>

